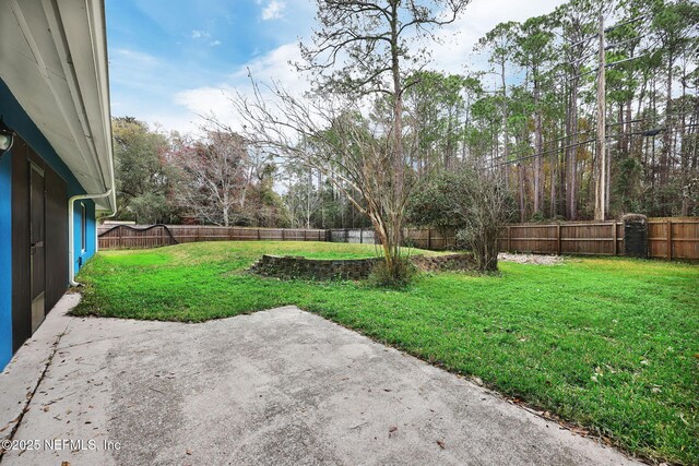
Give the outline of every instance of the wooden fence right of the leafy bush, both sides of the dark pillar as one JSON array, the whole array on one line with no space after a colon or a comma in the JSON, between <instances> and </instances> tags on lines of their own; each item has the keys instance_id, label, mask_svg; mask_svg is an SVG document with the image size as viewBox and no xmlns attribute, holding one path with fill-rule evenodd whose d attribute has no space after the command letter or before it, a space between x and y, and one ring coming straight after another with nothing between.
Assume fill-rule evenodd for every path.
<instances>
[{"instance_id":1,"label":"wooden fence right of the leafy bush, both sides of the dark pillar","mask_svg":"<svg viewBox=\"0 0 699 466\"><path fill-rule=\"evenodd\" d=\"M512 224L503 228L498 246L509 252L624 255L624 223ZM649 218L648 255L699 260L699 218Z\"/></svg>"}]
</instances>

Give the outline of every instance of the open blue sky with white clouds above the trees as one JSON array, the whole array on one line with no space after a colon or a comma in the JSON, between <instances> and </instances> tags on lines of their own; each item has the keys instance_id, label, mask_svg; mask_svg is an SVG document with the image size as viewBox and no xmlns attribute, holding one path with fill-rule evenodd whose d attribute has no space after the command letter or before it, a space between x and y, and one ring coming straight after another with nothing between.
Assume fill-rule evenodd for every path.
<instances>
[{"instance_id":1,"label":"open blue sky with white clouds above the trees","mask_svg":"<svg viewBox=\"0 0 699 466\"><path fill-rule=\"evenodd\" d=\"M463 72L473 44L497 23L552 11L560 0L474 0L433 50L433 69ZM293 91L288 65L309 39L311 0L106 0L111 112L163 130L193 131L199 115L229 113L226 93L248 88L247 70Z\"/></svg>"}]
</instances>

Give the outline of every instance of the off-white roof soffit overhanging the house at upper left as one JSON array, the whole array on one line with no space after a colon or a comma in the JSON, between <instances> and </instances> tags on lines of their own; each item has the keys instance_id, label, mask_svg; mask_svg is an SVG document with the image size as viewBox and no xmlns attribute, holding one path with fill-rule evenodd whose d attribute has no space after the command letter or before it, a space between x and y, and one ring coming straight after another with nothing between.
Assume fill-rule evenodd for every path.
<instances>
[{"instance_id":1,"label":"off-white roof soffit overhanging the house at upper left","mask_svg":"<svg viewBox=\"0 0 699 466\"><path fill-rule=\"evenodd\" d=\"M0 0L0 76L87 193L114 188L103 0Z\"/></svg>"}]
</instances>

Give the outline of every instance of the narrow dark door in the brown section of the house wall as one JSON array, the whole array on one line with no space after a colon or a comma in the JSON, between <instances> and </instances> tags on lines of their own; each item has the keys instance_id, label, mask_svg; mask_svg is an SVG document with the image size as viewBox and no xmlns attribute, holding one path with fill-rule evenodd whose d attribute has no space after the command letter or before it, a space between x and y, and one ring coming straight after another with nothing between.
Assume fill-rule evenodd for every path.
<instances>
[{"instance_id":1,"label":"narrow dark door in the brown section of the house wall","mask_svg":"<svg viewBox=\"0 0 699 466\"><path fill-rule=\"evenodd\" d=\"M44 170L29 163L29 242L32 282L32 333L46 315L46 239Z\"/></svg>"}]
</instances>

